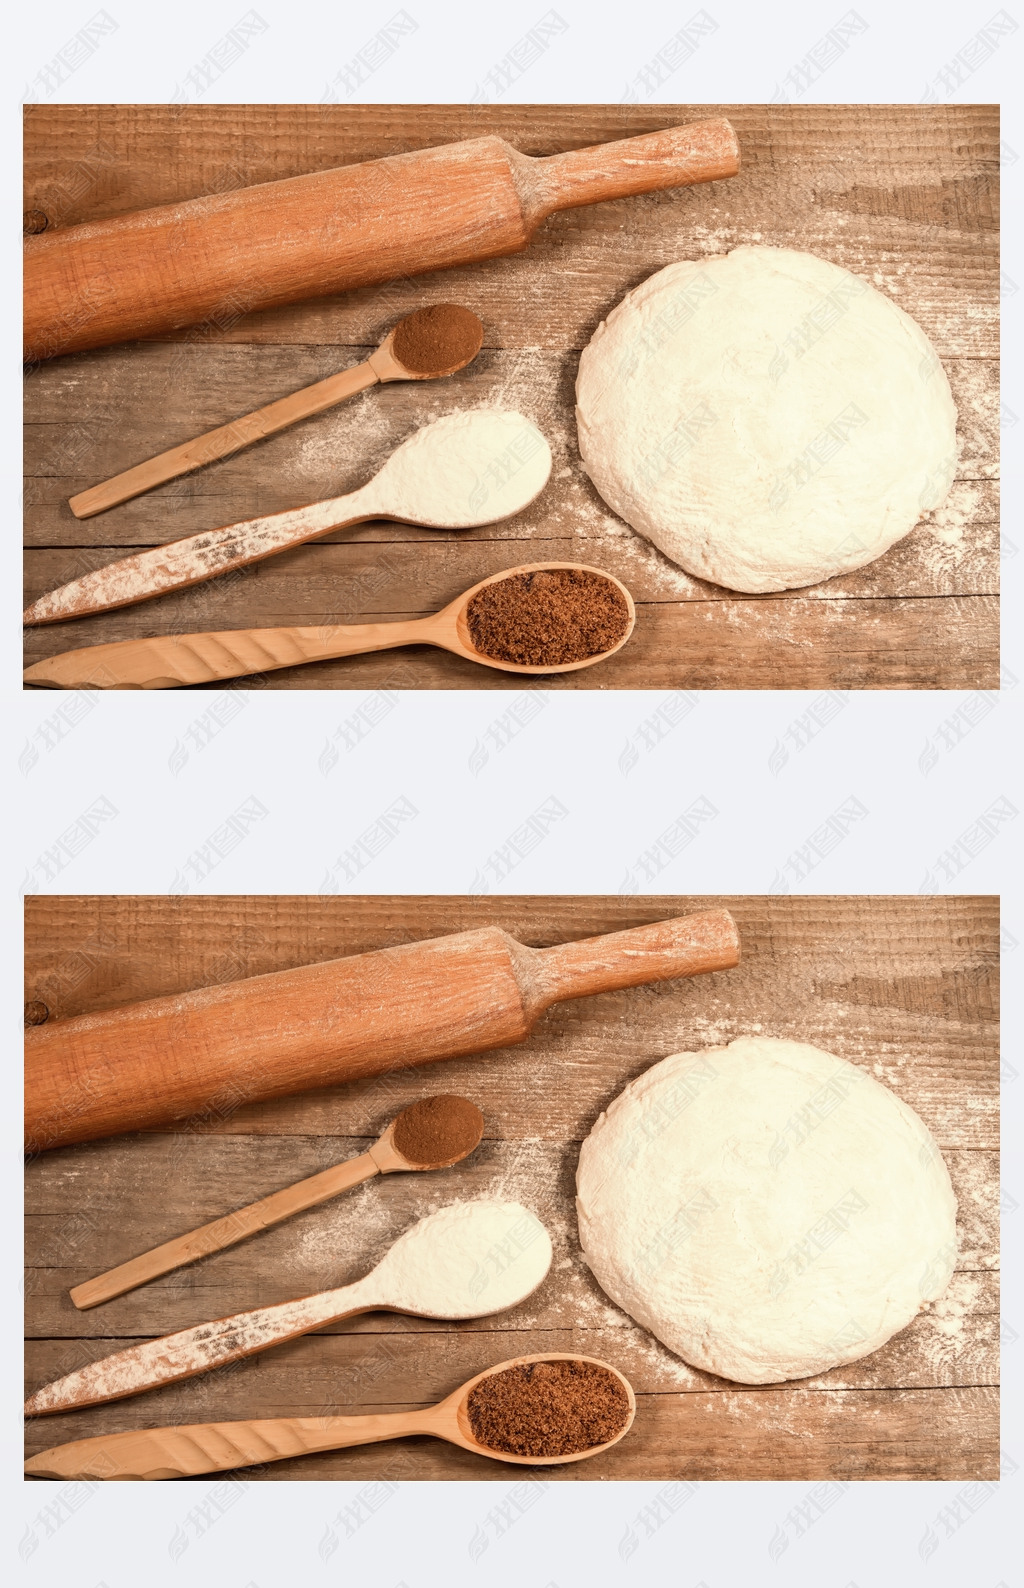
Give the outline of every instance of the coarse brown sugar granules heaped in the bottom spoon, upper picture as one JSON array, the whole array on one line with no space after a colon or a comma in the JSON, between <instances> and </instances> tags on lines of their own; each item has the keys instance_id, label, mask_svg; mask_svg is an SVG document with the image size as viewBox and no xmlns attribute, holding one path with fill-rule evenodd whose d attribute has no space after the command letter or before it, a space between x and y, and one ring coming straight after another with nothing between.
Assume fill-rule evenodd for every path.
<instances>
[{"instance_id":1,"label":"coarse brown sugar granules heaped in the bottom spoon, upper picture","mask_svg":"<svg viewBox=\"0 0 1024 1588\"><path fill-rule=\"evenodd\" d=\"M465 616L481 656L525 667L600 656L629 627L622 591L586 569L513 573L473 596Z\"/></svg>"}]
</instances>

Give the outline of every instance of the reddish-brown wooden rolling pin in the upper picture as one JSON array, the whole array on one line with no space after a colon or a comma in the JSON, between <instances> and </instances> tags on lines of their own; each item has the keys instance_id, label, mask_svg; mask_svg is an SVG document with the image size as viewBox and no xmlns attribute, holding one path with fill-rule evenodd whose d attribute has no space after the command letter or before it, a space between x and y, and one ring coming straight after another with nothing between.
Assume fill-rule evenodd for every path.
<instances>
[{"instance_id":1,"label":"reddish-brown wooden rolling pin in the upper picture","mask_svg":"<svg viewBox=\"0 0 1024 1588\"><path fill-rule=\"evenodd\" d=\"M472 138L25 240L25 357L525 248L556 210L735 176L727 121L546 159Z\"/></svg>"}]
</instances>

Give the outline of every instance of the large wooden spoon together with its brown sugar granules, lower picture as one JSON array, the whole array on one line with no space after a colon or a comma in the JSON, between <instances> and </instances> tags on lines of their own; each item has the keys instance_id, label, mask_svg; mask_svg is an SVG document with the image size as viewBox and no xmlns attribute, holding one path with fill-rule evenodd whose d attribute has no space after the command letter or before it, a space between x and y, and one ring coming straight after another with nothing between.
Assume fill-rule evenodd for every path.
<instances>
[{"instance_id":1,"label":"large wooden spoon together with its brown sugar granules, lower picture","mask_svg":"<svg viewBox=\"0 0 1024 1588\"><path fill-rule=\"evenodd\" d=\"M595 1356L516 1356L476 1374L437 1405L368 1416L276 1416L192 1423L76 1439L30 1456L29 1477L179 1478L291 1456L429 1434L492 1461L551 1467L587 1461L629 1432L629 1380Z\"/></svg>"}]
</instances>

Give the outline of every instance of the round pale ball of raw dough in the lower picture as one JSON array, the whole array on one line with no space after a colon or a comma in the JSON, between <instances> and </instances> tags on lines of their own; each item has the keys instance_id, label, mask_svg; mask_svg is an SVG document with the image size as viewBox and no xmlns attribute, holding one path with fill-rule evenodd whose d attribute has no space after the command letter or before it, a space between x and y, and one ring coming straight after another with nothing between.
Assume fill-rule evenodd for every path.
<instances>
[{"instance_id":1,"label":"round pale ball of raw dough in the lower picture","mask_svg":"<svg viewBox=\"0 0 1024 1588\"><path fill-rule=\"evenodd\" d=\"M675 1053L579 1154L602 1288L695 1367L776 1383L851 1363L949 1283L956 1197L905 1102L821 1048Z\"/></svg>"}]
</instances>

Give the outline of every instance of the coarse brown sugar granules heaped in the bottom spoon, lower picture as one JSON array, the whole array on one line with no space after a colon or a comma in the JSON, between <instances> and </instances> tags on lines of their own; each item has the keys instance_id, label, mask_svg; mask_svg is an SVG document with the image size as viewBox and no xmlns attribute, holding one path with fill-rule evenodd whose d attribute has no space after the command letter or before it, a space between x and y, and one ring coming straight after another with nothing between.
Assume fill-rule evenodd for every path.
<instances>
[{"instance_id":1,"label":"coarse brown sugar granules heaped in the bottom spoon, lower picture","mask_svg":"<svg viewBox=\"0 0 1024 1588\"><path fill-rule=\"evenodd\" d=\"M483 1378L467 1402L475 1437L513 1456L572 1456L606 1445L629 1420L619 1378L579 1359L522 1363Z\"/></svg>"}]
</instances>

